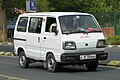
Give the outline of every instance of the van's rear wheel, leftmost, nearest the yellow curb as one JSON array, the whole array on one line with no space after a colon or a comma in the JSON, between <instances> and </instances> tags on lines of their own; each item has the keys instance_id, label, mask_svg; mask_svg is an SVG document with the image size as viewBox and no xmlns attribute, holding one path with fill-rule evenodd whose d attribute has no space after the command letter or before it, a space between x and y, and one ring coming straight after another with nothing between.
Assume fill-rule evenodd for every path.
<instances>
[{"instance_id":1,"label":"van's rear wheel, leftmost, nearest the yellow curb","mask_svg":"<svg viewBox=\"0 0 120 80\"><path fill-rule=\"evenodd\" d=\"M19 65L21 68L27 68L29 66L30 60L25 56L24 51L19 54Z\"/></svg>"}]
</instances>

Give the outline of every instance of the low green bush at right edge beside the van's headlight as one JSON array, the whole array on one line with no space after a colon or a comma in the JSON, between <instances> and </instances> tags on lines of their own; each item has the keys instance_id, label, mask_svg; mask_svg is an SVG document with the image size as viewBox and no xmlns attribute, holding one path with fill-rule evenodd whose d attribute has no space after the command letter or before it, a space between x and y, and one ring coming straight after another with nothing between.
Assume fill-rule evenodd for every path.
<instances>
[{"instance_id":1,"label":"low green bush at right edge beside the van's headlight","mask_svg":"<svg viewBox=\"0 0 120 80\"><path fill-rule=\"evenodd\" d=\"M120 36L111 36L107 38L109 45L120 45Z\"/></svg>"}]
</instances>

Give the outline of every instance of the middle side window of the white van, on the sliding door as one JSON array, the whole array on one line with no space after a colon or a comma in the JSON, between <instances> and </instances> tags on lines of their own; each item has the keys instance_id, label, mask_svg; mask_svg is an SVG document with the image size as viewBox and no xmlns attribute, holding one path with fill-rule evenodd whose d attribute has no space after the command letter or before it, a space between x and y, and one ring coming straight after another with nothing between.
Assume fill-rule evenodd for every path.
<instances>
[{"instance_id":1,"label":"middle side window of the white van, on the sliding door","mask_svg":"<svg viewBox=\"0 0 120 80\"><path fill-rule=\"evenodd\" d=\"M42 18L32 17L30 18L30 24L28 28L28 32L30 33L40 33L42 26Z\"/></svg>"}]
</instances>

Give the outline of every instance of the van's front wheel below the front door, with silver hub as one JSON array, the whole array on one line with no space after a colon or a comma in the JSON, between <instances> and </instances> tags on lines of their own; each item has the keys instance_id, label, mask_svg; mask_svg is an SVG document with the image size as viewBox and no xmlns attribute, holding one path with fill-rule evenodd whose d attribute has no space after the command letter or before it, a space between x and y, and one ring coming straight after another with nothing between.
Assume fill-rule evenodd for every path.
<instances>
[{"instance_id":1,"label":"van's front wheel below the front door, with silver hub","mask_svg":"<svg viewBox=\"0 0 120 80\"><path fill-rule=\"evenodd\" d=\"M52 54L48 54L46 63L47 63L47 70L49 72L56 72L59 70L58 69L59 64L56 62L55 57Z\"/></svg>"}]
</instances>

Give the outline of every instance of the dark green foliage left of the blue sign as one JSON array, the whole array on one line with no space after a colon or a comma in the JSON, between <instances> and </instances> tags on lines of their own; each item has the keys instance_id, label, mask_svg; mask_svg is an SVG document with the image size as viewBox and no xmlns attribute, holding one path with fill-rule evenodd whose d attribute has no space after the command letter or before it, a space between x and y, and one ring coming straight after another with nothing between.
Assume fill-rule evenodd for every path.
<instances>
[{"instance_id":1,"label":"dark green foliage left of the blue sign","mask_svg":"<svg viewBox=\"0 0 120 80\"><path fill-rule=\"evenodd\" d=\"M6 10L7 18L16 18L18 14L14 12L14 8L25 9L26 0L3 0L2 8Z\"/></svg>"}]
</instances>

